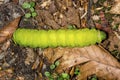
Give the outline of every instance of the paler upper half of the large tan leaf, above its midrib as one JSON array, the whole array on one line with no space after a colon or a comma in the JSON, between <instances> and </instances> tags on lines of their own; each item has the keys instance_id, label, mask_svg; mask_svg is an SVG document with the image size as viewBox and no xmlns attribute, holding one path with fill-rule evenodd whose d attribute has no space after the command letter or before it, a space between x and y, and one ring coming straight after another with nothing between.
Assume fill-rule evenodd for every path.
<instances>
[{"instance_id":1,"label":"paler upper half of the large tan leaf, above its midrib","mask_svg":"<svg viewBox=\"0 0 120 80\"><path fill-rule=\"evenodd\" d=\"M62 55L62 63L60 64L60 66L58 66L57 70L59 72L62 69L65 70L67 67L72 67L74 65L86 63L92 60L114 67L117 66L120 68L120 64L108 52L106 53L103 49L97 46L90 46L84 48L74 48L72 50L68 49L66 53Z\"/></svg>"}]
</instances>

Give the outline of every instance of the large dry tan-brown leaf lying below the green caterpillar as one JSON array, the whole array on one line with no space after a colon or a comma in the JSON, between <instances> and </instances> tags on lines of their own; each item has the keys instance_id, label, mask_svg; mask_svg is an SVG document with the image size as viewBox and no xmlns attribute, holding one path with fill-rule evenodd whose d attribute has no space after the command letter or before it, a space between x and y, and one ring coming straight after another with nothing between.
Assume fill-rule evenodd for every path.
<instances>
[{"instance_id":1,"label":"large dry tan-brown leaf lying below the green caterpillar","mask_svg":"<svg viewBox=\"0 0 120 80\"><path fill-rule=\"evenodd\" d=\"M105 78L106 80L120 79L119 62L100 46L49 48L44 51L44 56L51 63L54 63L56 60L60 61L60 65L56 68L58 73L75 65L81 65L81 75L78 76L78 80L86 80L92 74L96 74L98 77Z\"/></svg>"}]
</instances>

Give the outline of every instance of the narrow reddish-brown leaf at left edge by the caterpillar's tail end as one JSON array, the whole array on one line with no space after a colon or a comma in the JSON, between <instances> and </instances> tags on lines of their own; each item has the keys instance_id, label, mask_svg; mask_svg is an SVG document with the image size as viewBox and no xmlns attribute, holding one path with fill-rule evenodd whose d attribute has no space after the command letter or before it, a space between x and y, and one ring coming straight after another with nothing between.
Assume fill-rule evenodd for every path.
<instances>
[{"instance_id":1,"label":"narrow reddish-brown leaf at left edge by the caterpillar's tail end","mask_svg":"<svg viewBox=\"0 0 120 80\"><path fill-rule=\"evenodd\" d=\"M11 38L13 32L17 29L20 17L14 19L8 25L4 26L0 29L0 43L4 42L5 40Z\"/></svg>"}]
</instances>

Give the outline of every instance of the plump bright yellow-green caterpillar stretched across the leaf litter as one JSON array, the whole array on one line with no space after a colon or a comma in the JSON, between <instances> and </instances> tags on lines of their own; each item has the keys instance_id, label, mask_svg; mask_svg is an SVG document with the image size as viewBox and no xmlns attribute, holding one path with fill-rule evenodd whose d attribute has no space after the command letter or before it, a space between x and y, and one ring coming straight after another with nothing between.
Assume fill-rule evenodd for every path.
<instances>
[{"instance_id":1,"label":"plump bright yellow-green caterpillar stretched across the leaf litter","mask_svg":"<svg viewBox=\"0 0 120 80\"><path fill-rule=\"evenodd\" d=\"M106 38L103 31L96 29L80 30L35 30L17 29L13 34L16 44L24 47L84 47L100 43Z\"/></svg>"}]
</instances>

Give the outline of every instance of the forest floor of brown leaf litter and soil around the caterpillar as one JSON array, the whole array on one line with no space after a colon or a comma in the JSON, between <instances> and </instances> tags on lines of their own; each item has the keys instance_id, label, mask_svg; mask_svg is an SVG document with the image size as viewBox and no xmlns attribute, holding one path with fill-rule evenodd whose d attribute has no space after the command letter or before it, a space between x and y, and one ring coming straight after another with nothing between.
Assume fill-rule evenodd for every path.
<instances>
[{"instance_id":1,"label":"forest floor of brown leaf litter and soil around the caterpillar","mask_svg":"<svg viewBox=\"0 0 120 80\"><path fill-rule=\"evenodd\" d=\"M26 15L25 2L37 15ZM18 28L96 28L107 38L82 48L30 48L12 40ZM0 29L0 80L120 80L119 0L0 0Z\"/></svg>"}]
</instances>

